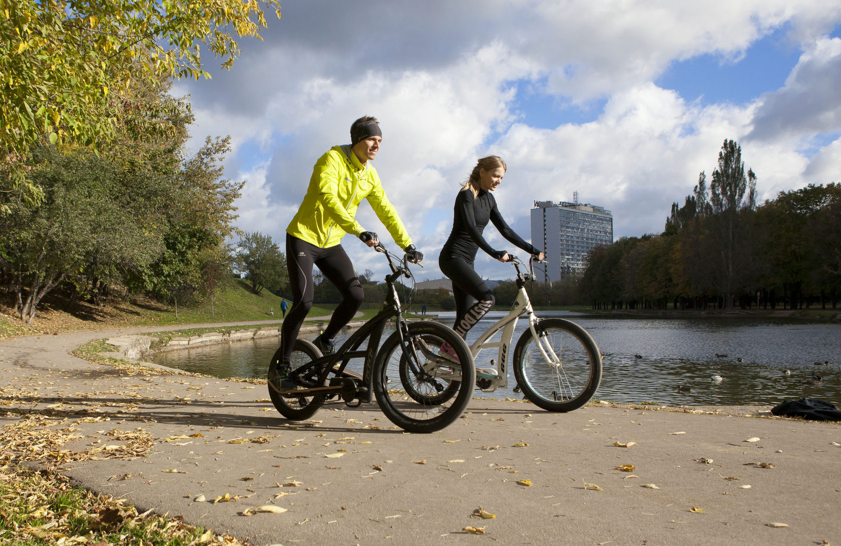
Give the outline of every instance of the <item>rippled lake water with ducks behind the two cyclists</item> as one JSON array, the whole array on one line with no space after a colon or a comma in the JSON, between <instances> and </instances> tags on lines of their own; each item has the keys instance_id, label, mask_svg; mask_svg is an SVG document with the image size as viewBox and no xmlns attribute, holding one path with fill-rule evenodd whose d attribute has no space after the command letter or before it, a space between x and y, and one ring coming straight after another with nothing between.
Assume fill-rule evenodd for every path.
<instances>
[{"instance_id":1,"label":"rippled lake water with ducks behind the two cyclists","mask_svg":"<svg viewBox=\"0 0 841 546\"><path fill-rule=\"evenodd\" d=\"M561 316L583 326L599 345L604 373L595 399L617 402L656 401L685 405L775 405L782 400L817 398L841 406L841 325L782 318L659 319L585 315L544 311L542 316ZM454 313L440 313L452 326ZM468 333L473 342L503 311L491 311ZM514 340L527 326L519 321ZM388 336L387 331L383 339ZM343 332L339 341L349 333ZM313 336L315 337L315 336ZM159 363L189 372L216 377L260 377L267 374L269 359L278 338L196 347L155 358ZM495 351L494 351L495 353ZM716 354L727 354L716 358ZM635 355L643 358L636 358ZM490 351L479 353L477 368L488 367ZM737 358L743 358L738 362ZM828 366L813 363L828 360ZM356 362L350 364L354 367ZM361 363L359 363L361 365ZM358 366L357 366L358 368ZM791 370L785 375L785 370ZM822 376L816 385L804 384L812 372ZM720 383L711 380L722 375ZM509 388L477 396L521 397L510 390L514 372L509 369ZM678 385L690 391L677 390Z\"/></svg>"}]
</instances>

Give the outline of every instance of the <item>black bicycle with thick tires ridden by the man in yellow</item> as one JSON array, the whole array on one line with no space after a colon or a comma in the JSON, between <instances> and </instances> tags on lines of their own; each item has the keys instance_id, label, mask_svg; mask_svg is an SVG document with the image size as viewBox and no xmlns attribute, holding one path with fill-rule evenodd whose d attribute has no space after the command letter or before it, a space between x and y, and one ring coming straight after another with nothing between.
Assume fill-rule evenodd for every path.
<instances>
[{"instance_id":1,"label":"black bicycle with thick tires ridden by the man in yellow","mask_svg":"<svg viewBox=\"0 0 841 546\"><path fill-rule=\"evenodd\" d=\"M410 322L404 317L395 282L412 278L408 257L400 259L385 246L374 246L389 262L391 274L385 278L387 296L383 310L354 331L336 353L323 355L318 347L303 339L295 341L292 353L292 379L295 390L278 391L269 384L274 407L286 418L309 419L328 400L343 400L356 407L376 397L385 416L410 432L435 432L462 415L475 384L470 349L452 328L439 322ZM394 333L382 347L386 323L395 321ZM367 347L362 343L368 339ZM447 344L454 356L443 353ZM281 351L269 363L269 377L280 363ZM347 368L354 358L363 358L362 375ZM392 381L394 385L392 385ZM404 385L409 385L410 392ZM418 397L416 392L443 393L444 397Z\"/></svg>"}]
</instances>

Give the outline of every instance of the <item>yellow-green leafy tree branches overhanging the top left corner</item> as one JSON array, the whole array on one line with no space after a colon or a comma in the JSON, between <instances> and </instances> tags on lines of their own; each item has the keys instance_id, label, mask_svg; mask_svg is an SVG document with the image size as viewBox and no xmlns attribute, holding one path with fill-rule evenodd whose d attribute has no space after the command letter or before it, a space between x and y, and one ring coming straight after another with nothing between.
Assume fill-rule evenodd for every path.
<instances>
[{"instance_id":1,"label":"yellow-green leafy tree branches overhanging the top left corner","mask_svg":"<svg viewBox=\"0 0 841 546\"><path fill-rule=\"evenodd\" d=\"M268 8L280 17L279 0L0 0L0 191L38 203L33 146L97 149L120 125L142 127L132 89L209 78L203 49L230 68L236 38L259 38Z\"/></svg>"}]
</instances>

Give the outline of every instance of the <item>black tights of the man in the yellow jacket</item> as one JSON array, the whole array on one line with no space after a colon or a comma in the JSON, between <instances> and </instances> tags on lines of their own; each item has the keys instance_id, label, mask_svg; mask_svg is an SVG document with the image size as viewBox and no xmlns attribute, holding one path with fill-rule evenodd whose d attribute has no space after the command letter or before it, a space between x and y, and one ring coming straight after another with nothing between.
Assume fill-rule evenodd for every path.
<instances>
[{"instance_id":1,"label":"black tights of the man in the yellow jacket","mask_svg":"<svg viewBox=\"0 0 841 546\"><path fill-rule=\"evenodd\" d=\"M359 284L351 258L347 257L341 245L320 248L301 241L298 237L286 234L286 267L289 271L289 288L292 290L292 308L280 329L280 347L283 348L283 361L289 362L295 340L304 319L313 306L313 265L339 289L342 300L331 316L324 331L325 339L332 339L351 321L365 293Z\"/></svg>"}]
</instances>

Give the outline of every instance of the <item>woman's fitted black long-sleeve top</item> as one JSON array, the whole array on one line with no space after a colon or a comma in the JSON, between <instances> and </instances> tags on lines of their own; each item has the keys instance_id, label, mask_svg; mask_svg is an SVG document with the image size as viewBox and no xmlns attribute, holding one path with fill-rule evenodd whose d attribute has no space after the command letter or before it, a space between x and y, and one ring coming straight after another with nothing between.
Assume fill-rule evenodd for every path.
<instances>
[{"instance_id":1,"label":"woman's fitted black long-sleeve top","mask_svg":"<svg viewBox=\"0 0 841 546\"><path fill-rule=\"evenodd\" d=\"M493 246L484 240L482 233L488 220L493 222L496 229L500 231L505 239L519 246L530 254L540 252L531 244L523 241L514 230L503 220L500 209L496 208L496 199L489 191L479 190L479 194L473 197L473 190L463 189L456 196L456 204L453 207L452 232L441 251L444 259L459 257L472 262L476 258L476 252L482 247L496 259L505 256L504 250L495 250Z\"/></svg>"}]
</instances>

